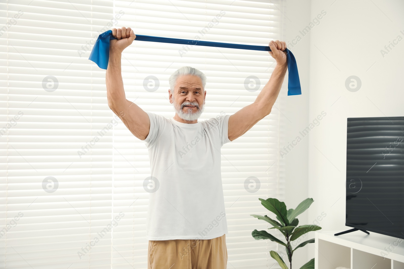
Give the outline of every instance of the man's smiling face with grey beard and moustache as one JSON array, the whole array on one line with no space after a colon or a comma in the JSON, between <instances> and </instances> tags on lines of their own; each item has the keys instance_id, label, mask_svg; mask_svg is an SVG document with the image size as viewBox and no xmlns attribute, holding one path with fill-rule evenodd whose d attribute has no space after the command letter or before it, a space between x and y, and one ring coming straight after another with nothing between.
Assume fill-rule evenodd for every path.
<instances>
[{"instance_id":1,"label":"man's smiling face with grey beard and moustache","mask_svg":"<svg viewBox=\"0 0 404 269\"><path fill-rule=\"evenodd\" d=\"M174 90L170 90L170 103L177 115L186 121L194 121L204 110L206 92L198 76L186 75L177 79Z\"/></svg>"}]
</instances>

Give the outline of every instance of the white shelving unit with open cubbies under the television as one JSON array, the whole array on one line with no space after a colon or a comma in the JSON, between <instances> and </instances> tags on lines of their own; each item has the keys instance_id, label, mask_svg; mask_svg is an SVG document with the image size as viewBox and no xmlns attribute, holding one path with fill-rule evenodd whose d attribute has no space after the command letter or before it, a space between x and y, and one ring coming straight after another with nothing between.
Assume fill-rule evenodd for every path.
<instances>
[{"instance_id":1,"label":"white shelving unit with open cubbies under the television","mask_svg":"<svg viewBox=\"0 0 404 269\"><path fill-rule=\"evenodd\" d=\"M315 232L315 269L404 269L403 239L363 231L334 236L339 232Z\"/></svg>"}]
</instances>

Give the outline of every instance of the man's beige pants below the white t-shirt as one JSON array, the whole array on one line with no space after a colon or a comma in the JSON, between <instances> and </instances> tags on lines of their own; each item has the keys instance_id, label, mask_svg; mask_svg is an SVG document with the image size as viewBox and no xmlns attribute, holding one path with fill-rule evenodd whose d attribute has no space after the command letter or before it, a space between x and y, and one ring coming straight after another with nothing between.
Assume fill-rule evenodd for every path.
<instances>
[{"instance_id":1,"label":"man's beige pants below the white t-shirt","mask_svg":"<svg viewBox=\"0 0 404 269\"><path fill-rule=\"evenodd\" d=\"M206 240L149 240L147 257L147 269L226 269L226 235Z\"/></svg>"}]
</instances>

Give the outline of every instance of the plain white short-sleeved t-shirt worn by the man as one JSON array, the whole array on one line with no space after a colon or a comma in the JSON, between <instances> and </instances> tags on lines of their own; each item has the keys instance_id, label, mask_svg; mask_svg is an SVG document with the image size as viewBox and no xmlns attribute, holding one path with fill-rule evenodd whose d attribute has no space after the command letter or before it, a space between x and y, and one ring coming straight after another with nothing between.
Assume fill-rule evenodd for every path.
<instances>
[{"instance_id":1,"label":"plain white short-sleeved t-shirt worn by the man","mask_svg":"<svg viewBox=\"0 0 404 269\"><path fill-rule=\"evenodd\" d=\"M221 146L230 115L197 123L147 112L151 181L147 240L212 239L227 234ZM146 184L147 184L146 182Z\"/></svg>"}]
</instances>

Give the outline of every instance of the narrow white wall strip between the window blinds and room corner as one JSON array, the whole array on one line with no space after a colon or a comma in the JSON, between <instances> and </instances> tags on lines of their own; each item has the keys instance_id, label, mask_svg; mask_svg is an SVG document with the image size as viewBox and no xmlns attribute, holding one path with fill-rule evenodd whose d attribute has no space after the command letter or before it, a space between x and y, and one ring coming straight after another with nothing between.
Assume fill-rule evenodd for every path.
<instances>
[{"instance_id":1,"label":"narrow white wall strip between the window blinds and room corner","mask_svg":"<svg viewBox=\"0 0 404 269\"><path fill-rule=\"evenodd\" d=\"M307 25L310 22L310 0L286 0L282 12L285 15L283 41L286 42L286 46L296 57L302 95L286 96L288 81L284 81L283 89L280 93L279 109L284 115L282 122L286 136L280 140L281 147L288 146L288 142L295 140L296 136L299 135L299 131L307 126L309 119L310 38L305 36L296 45L290 45L291 43L289 42L292 42L296 35L299 34L299 30L303 28L302 25ZM306 137L294 148L290 147L291 150L283 156L285 162L285 203L288 208L296 208L301 201L310 197L307 186L308 144L309 140ZM300 225L312 223L312 220L308 221L307 219L307 212L301 214L298 219ZM307 239L311 238L314 238L314 232L310 232L309 237L307 237ZM308 251L307 245L296 250L292 256L293 268L300 268L307 261L314 258L314 252ZM287 261L287 259L284 259L284 261ZM288 262L286 264L289 266Z\"/></svg>"}]
</instances>

